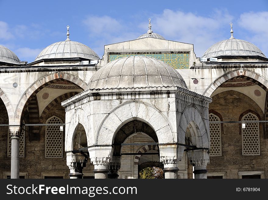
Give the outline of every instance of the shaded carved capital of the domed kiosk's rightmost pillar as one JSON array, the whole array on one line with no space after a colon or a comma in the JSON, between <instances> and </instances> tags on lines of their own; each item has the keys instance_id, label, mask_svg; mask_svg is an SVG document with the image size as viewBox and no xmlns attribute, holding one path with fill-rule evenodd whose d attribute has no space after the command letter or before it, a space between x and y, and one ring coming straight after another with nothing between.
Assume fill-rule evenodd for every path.
<instances>
[{"instance_id":1,"label":"shaded carved capital of the domed kiosk's rightmost pillar","mask_svg":"<svg viewBox=\"0 0 268 200\"><path fill-rule=\"evenodd\" d=\"M206 149L188 150L187 157L193 166L207 166L209 164L209 154Z\"/></svg>"}]
</instances>

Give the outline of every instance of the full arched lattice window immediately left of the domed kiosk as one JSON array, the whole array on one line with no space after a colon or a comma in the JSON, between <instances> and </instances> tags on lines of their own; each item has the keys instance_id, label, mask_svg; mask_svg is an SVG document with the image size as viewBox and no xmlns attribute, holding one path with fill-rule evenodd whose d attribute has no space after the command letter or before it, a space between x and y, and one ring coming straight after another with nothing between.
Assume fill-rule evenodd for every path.
<instances>
[{"instance_id":1,"label":"full arched lattice window immediately left of the domed kiosk","mask_svg":"<svg viewBox=\"0 0 268 200\"><path fill-rule=\"evenodd\" d=\"M62 123L62 120L52 116L46 123L57 124ZM45 158L62 158L62 131L59 125L46 126L45 143Z\"/></svg>"}]
</instances>

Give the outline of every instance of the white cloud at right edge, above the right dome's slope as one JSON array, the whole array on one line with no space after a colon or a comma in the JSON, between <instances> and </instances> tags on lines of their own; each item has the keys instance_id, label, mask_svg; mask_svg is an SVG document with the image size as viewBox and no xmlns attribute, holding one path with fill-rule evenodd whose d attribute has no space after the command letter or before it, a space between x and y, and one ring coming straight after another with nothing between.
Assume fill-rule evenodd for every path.
<instances>
[{"instance_id":1,"label":"white cloud at right edge, above the right dome's slope","mask_svg":"<svg viewBox=\"0 0 268 200\"><path fill-rule=\"evenodd\" d=\"M238 20L239 26L249 31L245 38L247 41L259 47L268 57L268 12L245 12Z\"/></svg>"}]
</instances>

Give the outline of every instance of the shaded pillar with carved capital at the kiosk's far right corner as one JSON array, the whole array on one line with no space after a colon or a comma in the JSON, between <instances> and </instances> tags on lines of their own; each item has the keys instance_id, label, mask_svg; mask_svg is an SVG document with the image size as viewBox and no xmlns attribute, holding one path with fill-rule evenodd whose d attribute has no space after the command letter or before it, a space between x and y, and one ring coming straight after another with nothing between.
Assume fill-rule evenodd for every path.
<instances>
[{"instance_id":1,"label":"shaded pillar with carved capital at the kiosk's far right corner","mask_svg":"<svg viewBox=\"0 0 268 200\"><path fill-rule=\"evenodd\" d=\"M188 150L187 157L190 160L190 163L194 166L193 173L195 174L195 179L206 178L206 166L209 163L208 150Z\"/></svg>"}]
</instances>

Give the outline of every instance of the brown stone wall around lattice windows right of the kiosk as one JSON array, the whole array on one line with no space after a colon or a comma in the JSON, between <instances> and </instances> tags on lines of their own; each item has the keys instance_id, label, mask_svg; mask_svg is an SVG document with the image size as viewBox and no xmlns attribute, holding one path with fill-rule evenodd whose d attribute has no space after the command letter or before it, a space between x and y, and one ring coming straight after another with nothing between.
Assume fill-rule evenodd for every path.
<instances>
[{"instance_id":1,"label":"brown stone wall around lattice windows right of the kiosk","mask_svg":"<svg viewBox=\"0 0 268 200\"><path fill-rule=\"evenodd\" d=\"M256 102L238 91L224 91L212 98L209 109L220 113L223 121L239 121L239 116L247 110L252 110L259 115L259 120L264 120L264 114ZM242 135L238 123L223 123L222 127L222 156L210 156L208 172L226 172L226 178L238 178L238 171L265 171L265 178L268 178L268 140L264 137L264 123L259 123L260 155L242 155Z\"/></svg>"}]
</instances>

